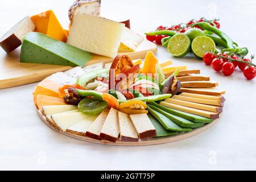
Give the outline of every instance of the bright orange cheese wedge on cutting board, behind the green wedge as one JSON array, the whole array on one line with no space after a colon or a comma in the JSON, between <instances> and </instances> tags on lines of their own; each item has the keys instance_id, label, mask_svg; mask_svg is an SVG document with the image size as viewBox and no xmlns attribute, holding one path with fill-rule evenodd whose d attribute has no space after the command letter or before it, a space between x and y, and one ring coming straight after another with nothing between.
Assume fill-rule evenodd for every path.
<instances>
[{"instance_id":1,"label":"bright orange cheese wedge on cutting board, behind the green wedge","mask_svg":"<svg viewBox=\"0 0 256 182\"><path fill-rule=\"evenodd\" d=\"M36 26L35 32L46 34L62 42L67 42L67 32L64 31L52 10L31 16L30 18Z\"/></svg>"}]
</instances>

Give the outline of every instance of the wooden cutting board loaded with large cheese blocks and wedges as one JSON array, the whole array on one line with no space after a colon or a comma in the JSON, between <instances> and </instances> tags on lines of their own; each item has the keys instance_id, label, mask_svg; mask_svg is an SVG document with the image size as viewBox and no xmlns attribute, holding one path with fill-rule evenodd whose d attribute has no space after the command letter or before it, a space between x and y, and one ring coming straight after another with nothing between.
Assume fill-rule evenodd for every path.
<instances>
[{"instance_id":1,"label":"wooden cutting board loaded with large cheese blocks and wedges","mask_svg":"<svg viewBox=\"0 0 256 182\"><path fill-rule=\"evenodd\" d=\"M102 18L100 9L100 1L76 1L68 10L68 30L52 10L21 19L0 37L0 89L76 66L111 63L116 55L135 60L156 53L154 43L130 29L130 20Z\"/></svg>"}]
</instances>

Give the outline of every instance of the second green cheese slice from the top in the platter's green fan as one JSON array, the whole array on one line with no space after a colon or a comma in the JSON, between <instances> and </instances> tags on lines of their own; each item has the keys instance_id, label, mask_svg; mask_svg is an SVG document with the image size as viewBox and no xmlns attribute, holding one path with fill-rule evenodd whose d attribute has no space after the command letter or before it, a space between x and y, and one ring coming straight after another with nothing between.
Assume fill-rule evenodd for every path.
<instances>
[{"instance_id":1,"label":"second green cheese slice from the top in the platter's green fan","mask_svg":"<svg viewBox=\"0 0 256 182\"><path fill-rule=\"evenodd\" d=\"M171 119L171 121L175 122L177 125L181 126L181 127L190 127L192 129L195 129L197 127L202 127L204 126L204 123L193 123L192 121L189 121L188 119L184 119L181 117L178 117L176 115L167 113L166 111L159 109L156 106L152 106L150 105L150 107L156 111L158 111L159 113L165 115L167 118Z\"/></svg>"}]
</instances>

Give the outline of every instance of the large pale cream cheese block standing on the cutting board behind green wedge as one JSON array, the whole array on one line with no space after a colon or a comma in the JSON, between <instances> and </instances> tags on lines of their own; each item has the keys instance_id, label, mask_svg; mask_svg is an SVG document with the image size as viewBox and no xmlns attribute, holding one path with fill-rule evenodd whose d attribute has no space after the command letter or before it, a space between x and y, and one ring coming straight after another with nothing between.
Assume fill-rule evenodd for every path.
<instances>
[{"instance_id":1,"label":"large pale cream cheese block standing on the cutting board behind green wedge","mask_svg":"<svg viewBox=\"0 0 256 182\"><path fill-rule=\"evenodd\" d=\"M114 58L122 40L125 24L77 13L73 17L68 44L98 55Z\"/></svg>"}]
</instances>

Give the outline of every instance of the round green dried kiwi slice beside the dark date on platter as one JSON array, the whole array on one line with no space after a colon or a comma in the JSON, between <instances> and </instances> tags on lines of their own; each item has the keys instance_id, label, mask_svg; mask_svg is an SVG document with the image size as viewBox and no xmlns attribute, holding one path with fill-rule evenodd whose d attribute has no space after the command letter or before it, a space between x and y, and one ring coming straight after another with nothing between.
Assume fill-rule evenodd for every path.
<instances>
[{"instance_id":1,"label":"round green dried kiwi slice beside the dark date on platter","mask_svg":"<svg viewBox=\"0 0 256 182\"><path fill-rule=\"evenodd\" d=\"M84 98L79 102L79 111L84 114L94 115L99 114L106 108L108 108L108 103L98 98Z\"/></svg>"}]
</instances>

